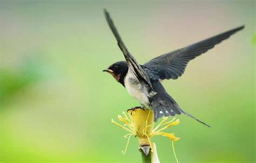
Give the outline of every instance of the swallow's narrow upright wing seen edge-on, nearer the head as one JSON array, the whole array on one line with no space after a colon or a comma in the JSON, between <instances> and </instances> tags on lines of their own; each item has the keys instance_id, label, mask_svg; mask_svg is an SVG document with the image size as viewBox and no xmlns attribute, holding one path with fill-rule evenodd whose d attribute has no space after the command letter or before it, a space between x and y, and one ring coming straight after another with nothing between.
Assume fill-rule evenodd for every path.
<instances>
[{"instance_id":1,"label":"swallow's narrow upright wing seen edge-on, nearer the head","mask_svg":"<svg viewBox=\"0 0 256 163\"><path fill-rule=\"evenodd\" d=\"M152 87L149 77L146 75L146 73L144 72L142 67L138 64L136 59L133 58L131 53L126 48L122 38L120 37L116 27L114 26L114 23L110 17L110 13L107 12L106 9L104 9L104 13L105 13L107 23L109 24L109 27L114 34L114 37L116 37L117 44L118 44L120 50L124 53L125 60L128 63L129 67L135 71L137 76L142 77Z\"/></svg>"}]
</instances>

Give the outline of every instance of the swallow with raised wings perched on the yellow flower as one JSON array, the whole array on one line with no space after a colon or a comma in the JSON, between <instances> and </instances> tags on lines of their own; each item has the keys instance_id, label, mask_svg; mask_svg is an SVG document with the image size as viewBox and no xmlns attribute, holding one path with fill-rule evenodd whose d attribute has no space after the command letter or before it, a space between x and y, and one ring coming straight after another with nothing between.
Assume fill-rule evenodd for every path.
<instances>
[{"instance_id":1,"label":"swallow with raised wings perched on the yellow flower","mask_svg":"<svg viewBox=\"0 0 256 163\"><path fill-rule=\"evenodd\" d=\"M148 108L152 110L155 122L163 116L173 117L176 114L183 113L199 123L211 127L190 113L185 112L167 93L161 81L165 79L178 79L184 73L190 60L212 49L216 44L227 39L235 32L244 29L245 26L239 26L192 45L174 50L140 65L128 51L113 23L110 13L106 9L104 9L104 15L120 50L123 52L125 60L113 63L103 71L109 72L114 79L126 88L133 98L139 101L140 106L133 107L132 109Z\"/></svg>"}]
</instances>

